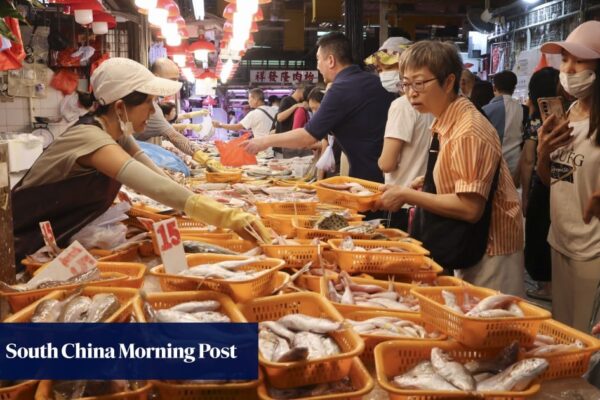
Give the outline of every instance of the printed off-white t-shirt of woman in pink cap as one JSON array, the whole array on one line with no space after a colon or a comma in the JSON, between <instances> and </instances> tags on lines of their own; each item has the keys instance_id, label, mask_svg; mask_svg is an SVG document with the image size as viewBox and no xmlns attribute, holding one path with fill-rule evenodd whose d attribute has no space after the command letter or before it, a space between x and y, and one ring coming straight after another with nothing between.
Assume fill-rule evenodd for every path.
<instances>
[{"instance_id":1,"label":"printed off-white t-shirt of woman in pink cap","mask_svg":"<svg viewBox=\"0 0 600 400\"><path fill-rule=\"evenodd\" d=\"M569 124L575 140L552 153L550 164L552 223L548 242L577 261L600 258L600 220L583 222L585 206L592 193L600 189L600 147L595 145L598 132L588 138L589 124L589 119Z\"/></svg>"}]
</instances>

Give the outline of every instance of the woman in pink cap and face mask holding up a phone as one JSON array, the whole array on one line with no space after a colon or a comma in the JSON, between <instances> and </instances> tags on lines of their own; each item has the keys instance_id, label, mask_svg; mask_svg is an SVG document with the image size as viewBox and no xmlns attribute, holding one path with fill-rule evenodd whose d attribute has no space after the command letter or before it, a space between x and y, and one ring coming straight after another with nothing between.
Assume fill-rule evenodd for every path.
<instances>
[{"instance_id":1,"label":"woman in pink cap and face mask holding up a phone","mask_svg":"<svg viewBox=\"0 0 600 400\"><path fill-rule=\"evenodd\" d=\"M551 116L538 131L538 174L550 186L548 242L552 247L554 318L589 327L600 282L600 220L585 218L600 190L600 22L579 25L542 52L561 54L560 83L577 100L565 121Z\"/></svg>"}]
</instances>

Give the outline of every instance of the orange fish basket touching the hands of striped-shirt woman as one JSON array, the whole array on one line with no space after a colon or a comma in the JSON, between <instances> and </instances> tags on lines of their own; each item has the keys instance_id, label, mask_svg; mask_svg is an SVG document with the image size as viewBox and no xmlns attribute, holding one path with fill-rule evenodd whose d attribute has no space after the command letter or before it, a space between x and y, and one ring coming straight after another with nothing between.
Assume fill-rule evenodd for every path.
<instances>
[{"instance_id":1,"label":"orange fish basket touching the hands of striped-shirt woman","mask_svg":"<svg viewBox=\"0 0 600 400\"><path fill-rule=\"evenodd\" d=\"M321 186L321 183L360 183L366 189L374 192L369 196L357 196L350 192L344 192L341 190L328 189ZM335 204L341 207L352 208L357 211L371 211L373 205L381 197L379 187L381 183L366 181L363 179L350 178L348 176L334 176L327 178L322 181L316 182L314 188L317 190L317 196L323 203Z\"/></svg>"}]
</instances>

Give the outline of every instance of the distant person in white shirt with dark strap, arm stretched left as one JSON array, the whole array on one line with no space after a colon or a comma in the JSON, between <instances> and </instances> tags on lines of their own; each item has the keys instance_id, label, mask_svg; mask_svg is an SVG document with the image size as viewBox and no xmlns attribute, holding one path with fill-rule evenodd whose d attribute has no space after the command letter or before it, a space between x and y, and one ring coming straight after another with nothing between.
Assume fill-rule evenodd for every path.
<instances>
[{"instance_id":1,"label":"distant person in white shirt with dark strap, arm stretched left","mask_svg":"<svg viewBox=\"0 0 600 400\"><path fill-rule=\"evenodd\" d=\"M230 131L251 130L255 138L267 136L271 131L271 125L275 115L271 107L265 105L265 95L260 89L252 89L248 92L248 104L253 109L237 124L223 124L213 121L215 128L223 128Z\"/></svg>"}]
</instances>

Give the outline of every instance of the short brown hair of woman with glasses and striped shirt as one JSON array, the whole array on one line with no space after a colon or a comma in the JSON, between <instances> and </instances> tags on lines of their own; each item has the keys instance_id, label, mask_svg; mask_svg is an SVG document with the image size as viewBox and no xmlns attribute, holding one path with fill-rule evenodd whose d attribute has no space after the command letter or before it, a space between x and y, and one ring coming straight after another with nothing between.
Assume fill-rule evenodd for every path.
<instances>
[{"instance_id":1,"label":"short brown hair of woman with glasses and striped shirt","mask_svg":"<svg viewBox=\"0 0 600 400\"><path fill-rule=\"evenodd\" d=\"M400 55L400 75L407 69L427 68L440 86L454 75L454 93L460 89L463 63L454 43L423 40L410 46Z\"/></svg>"}]
</instances>

